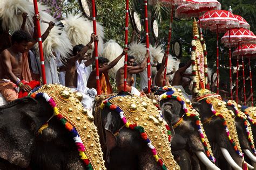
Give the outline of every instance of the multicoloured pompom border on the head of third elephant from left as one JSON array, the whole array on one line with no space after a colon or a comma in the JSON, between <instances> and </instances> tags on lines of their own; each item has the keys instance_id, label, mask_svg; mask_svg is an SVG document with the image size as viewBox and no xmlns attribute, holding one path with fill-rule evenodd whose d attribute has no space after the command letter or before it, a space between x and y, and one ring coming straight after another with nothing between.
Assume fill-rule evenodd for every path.
<instances>
[{"instance_id":1,"label":"multicoloured pompom border on the head of third elephant from left","mask_svg":"<svg viewBox=\"0 0 256 170\"><path fill-rule=\"evenodd\" d=\"M191 117L191 118L194 117L196 119L195 123L196 123L196 126L198 128L201 143L204 146L206 155L212 162L215 162L216 159L213 156L211 147L209 147L210 143L209 143L208 138L205 134L203 124L200 121L200 117L199 117L198 112L195 109L193 109L193 107L191 105L191 102L189 100L186 100L186 98L181 93L180 89L176 89L172 86L165 86L165 87L163 87L163 90L166 90L167 92L159 96L160 101L165 100L166 98L173 98L173 99L177 100L178 102L180 102L180 104L183 106L183 110L184 110L185 114L183 116L181 116L180 121L178 121L176 123L176 125L178 126L181 123L181 121L183 121L182 118L184 116Z\"/></svg>"}]
</instances>

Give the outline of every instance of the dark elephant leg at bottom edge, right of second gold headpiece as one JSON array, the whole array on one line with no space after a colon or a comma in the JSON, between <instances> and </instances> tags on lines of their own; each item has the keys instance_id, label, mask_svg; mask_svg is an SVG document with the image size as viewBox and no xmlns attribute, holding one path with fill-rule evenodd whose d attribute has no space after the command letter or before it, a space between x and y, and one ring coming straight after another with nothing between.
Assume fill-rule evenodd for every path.
<instances>
[{"instance_id":1,"label":"dark elephant leg at bottom edge, right of second gold headpiece","mask_svg":"<svg viewBox=\"0 0 256 170\"><path fill-rule=\"evenodd\" d=\"M187 151L185 150L173 151L172 154L174 156L174 159L176 158L176 161L180 166L180 169L185 169L185 170L192 169L190 154L188 154Z\"/></svg>"}]
</instances>

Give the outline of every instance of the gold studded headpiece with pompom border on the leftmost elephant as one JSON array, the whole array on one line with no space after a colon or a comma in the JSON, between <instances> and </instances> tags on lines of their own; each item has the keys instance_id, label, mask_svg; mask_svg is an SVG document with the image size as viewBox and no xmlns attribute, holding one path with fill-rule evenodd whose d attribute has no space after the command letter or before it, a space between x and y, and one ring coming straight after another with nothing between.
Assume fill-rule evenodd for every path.
<instances>
[{"instance_id":1,"label":"gold studded headpiece with pompom border on the leftmost elephant","mask_svg":"<svg viewBox=\"0 0 256 170\"><path fill-rule=\"evenodd\" d=\"M97 127L93 123L93 116L90 111L84 109L79 101L82 99L81 94L74 94L69 88L62 85L45 84L31 94L31 97L44 97L46 102L49 102L53 108L54 116L65 126L75 140L86 169L106 169Z\"/></svg>"}]
</instances>

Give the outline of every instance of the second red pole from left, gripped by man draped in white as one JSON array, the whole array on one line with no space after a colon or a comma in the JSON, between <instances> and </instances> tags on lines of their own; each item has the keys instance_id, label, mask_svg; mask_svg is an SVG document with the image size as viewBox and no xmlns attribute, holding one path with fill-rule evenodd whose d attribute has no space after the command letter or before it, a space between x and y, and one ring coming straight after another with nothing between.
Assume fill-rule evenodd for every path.
<instances>
[{"instance_id":1,"label":"second red pole from left, gripped by man draped in white","mask_svg":"<svg viewBox=\"0 0 256 170\"><path fill-rule=\"evenodd\" d=\"M95 35L97 35L95 0L92 0L92 24L93 24L93 32ZM95 65L96 65L97 95L100 95L102 91L100 90L100 84L99 84L98 41L94 41L94 48L95 48L94 52L95 52Z\"/></svg>"}]
</instances>

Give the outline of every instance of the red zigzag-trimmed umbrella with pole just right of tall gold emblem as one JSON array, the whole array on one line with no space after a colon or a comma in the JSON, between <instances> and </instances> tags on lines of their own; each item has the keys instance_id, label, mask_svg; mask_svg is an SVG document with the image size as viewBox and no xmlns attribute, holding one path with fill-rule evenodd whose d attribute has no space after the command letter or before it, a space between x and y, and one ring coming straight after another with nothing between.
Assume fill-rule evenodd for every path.
<instances>
[{"instance_id":1,"label":"red zigzag-trimmed umbrella with pole just right of tall gold emblem","mask_svg":"<svg viewBox=\"0 0 256 170\"><path fill-rule=\"evenodd\" d=\"M217 93L219 93L219 32L238 26L238 19L226 10L211 10L200 17L201 26L217 33ZM221 26L221 29L219 29Z\"/></svg>"}]
</instances>

